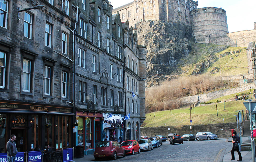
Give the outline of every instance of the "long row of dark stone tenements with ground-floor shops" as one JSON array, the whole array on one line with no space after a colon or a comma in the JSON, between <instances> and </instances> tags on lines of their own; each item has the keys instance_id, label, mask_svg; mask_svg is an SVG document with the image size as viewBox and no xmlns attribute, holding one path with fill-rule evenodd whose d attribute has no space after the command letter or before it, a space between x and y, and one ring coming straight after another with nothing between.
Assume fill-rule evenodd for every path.
<instances>
[{"instance_id":1,"label":"long row of dark stone tenements with ground-floor shops","mask_svg":"<svg viewBox=\"0 0 256 162\"><path fill-rule=\"evenodd\" d=\"M1 2L1 151L11 134L18 152L50 145L90 154L104 139L139 139L146 47L136 28L107 0Z\"/></svg>"}]
</instances>

